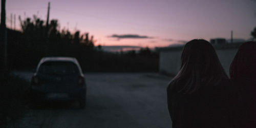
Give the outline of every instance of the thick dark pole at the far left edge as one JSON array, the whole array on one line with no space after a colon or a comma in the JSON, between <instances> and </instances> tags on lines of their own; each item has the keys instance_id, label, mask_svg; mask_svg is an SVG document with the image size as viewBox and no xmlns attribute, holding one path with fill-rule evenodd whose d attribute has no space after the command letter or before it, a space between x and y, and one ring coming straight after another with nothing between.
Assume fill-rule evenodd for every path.
<instances>
[{"instance_id":1,"label":"thick dark pole at the far left edge","mask_svg":"<svg viewBox=\"0 0 256 128\"><path fill-rule=\"evenodd\" d=\"M7 30L6 30L6 12L5 12L6 0L1 1L1 24L0 24L0 49L1 49L1 68L7 69ZM4 60L4 62L3 62Z\"/></svg>"}]
</instances>

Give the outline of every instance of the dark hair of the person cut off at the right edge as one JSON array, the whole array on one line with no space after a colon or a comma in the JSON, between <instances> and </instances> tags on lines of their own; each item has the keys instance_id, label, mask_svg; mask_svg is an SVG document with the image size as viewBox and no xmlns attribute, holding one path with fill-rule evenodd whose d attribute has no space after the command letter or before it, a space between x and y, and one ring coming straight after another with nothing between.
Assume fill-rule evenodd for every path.
<instances>
[{"instance_id":1,"label":"dark hair of the person cut off at the right edge","mask_svg":"<svg viewBox=\"0 0 256 128\"><path fill-rule=\"evenodd\" d=\"M230 65L229 74L231 80L237 82L246 82L256 79L255 41L248 41L240 46Z\"/></svg>"}]
</instances>

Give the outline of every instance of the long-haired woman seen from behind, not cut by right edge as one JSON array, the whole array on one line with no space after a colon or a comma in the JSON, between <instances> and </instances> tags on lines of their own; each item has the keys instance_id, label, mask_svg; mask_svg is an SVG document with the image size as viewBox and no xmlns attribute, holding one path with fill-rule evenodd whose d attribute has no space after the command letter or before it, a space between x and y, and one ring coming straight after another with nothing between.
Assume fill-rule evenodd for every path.
<instances>
[{"instance_id":1,"label":"long-haired woman seen from behind, not cut by right edge","mask_svg":"<svg viewBox=\"0 0 256 128\"><path fill-rule=\"evenodd\" d=\"M185 45L181 69L167 87L173 128L234 127L236 92L211 44L194 39Z\"/></svg>"}]
</instances>

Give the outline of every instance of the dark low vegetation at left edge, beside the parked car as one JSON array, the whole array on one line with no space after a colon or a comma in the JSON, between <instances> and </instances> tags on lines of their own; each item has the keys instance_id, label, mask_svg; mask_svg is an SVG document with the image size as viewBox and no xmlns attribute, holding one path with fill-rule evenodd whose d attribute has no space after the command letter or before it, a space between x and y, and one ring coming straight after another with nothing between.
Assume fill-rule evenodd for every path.
<instances>
[{"instance_id":1,"label":"dark low vegetation at left edge, beside the parked car","mask_svg":"<svg viewBox=\"0 0 256 128\"><path fill-rule=\"evenodd\" d=\"M0 85L0 127L16 127L27 108L29 83L6 71L0 73Z\"/></svg>"}]
</instances>

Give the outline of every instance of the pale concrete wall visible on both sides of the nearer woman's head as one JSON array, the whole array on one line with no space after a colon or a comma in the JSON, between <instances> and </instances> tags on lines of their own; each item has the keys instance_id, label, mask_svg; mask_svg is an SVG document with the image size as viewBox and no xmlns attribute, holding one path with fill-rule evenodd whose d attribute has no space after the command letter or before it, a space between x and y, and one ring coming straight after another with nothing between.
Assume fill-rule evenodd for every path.
<instances>
[{"instance_id":1,"label":"pale concrete wall visible on both sides of the nearer woman's head","mask_svg":"<svg viewBox=\"0 0 256 128\"><path fill-rule=\"evenodd\" d=\"M221 65L227 75L229 75L230 63L236 55L240 45L241 44L215 46L216 53L218 54ZM159 51L159 72L176 75L180 70L182 47L163 48Z\"/></svg>"}]
</instances>

